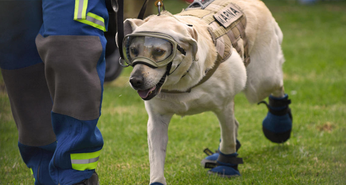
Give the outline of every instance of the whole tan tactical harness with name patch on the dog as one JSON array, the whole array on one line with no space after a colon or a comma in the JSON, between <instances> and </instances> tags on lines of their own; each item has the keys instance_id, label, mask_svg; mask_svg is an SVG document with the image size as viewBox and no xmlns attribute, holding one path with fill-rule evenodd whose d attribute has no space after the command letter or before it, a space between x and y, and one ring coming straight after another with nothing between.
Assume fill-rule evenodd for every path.
<instances>
[{"instance_id":1,"label":"whole tan tactical harness with name patch on the dog","mask_svg":"<svg viewBox=\"0 0 346 185\"><path fill-rule=\"evenodd\" d=\"M181 16L195 16L209 24L208 31L217 50L217 59L213 68L206 70L206 75L191 89L206 82L216 71L217 67L232 55L233 48L242 57L244 65L250 63L248 42L245 35L246 17L241 8L229 0L195 1L183 12ZM186 93L181 91L168 91L163 93Z\"/></svg>"}]
</instances>

